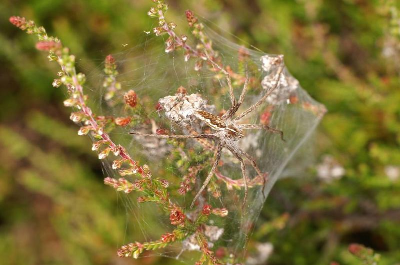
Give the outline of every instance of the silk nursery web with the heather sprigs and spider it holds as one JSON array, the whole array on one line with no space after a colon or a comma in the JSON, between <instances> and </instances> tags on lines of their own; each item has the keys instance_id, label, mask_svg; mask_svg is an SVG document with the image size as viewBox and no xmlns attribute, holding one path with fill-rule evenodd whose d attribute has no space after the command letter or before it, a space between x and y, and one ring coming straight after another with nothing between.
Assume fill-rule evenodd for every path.
<instances>
[{"instance_id":1,"label":"silk nursery web with the heather sprigs and spider it holds","mask_svg":"<svg viewBox=\"0 0 400 265\"><path fill-rule=\"evenodd\" d=\"M126 209L117 255L244 263L270 189L325 108L283 55L237 45L189 10L176 28L167 5L153 2L155 26L142 43L106 56L87 77L58 39L10 21L61 65L53 85L66 85L78 134L93 141L104 183Z\"/></svg>"}]
</instances>

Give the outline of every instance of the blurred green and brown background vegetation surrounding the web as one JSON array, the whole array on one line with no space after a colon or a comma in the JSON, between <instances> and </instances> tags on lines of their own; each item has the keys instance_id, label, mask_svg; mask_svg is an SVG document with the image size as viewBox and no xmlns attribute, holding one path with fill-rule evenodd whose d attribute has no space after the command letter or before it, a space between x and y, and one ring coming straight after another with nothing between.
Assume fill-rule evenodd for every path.
<instances>
[{"instance_id":1,"label":"blurred green and brown background vegetation surrounding the web","mask_svg":"<svg viewBox=\"0 0 400 265\"><path fill-rule=\"evenodd\" d=\"M316 165L276 183L249 245L270 243L260 264L359 264L363 244L400 263L400 4L395 0L168 0L168 19L190 8L268 53L282 53L328 113ZM118 259L123 203L102 184L90 141L76 135L58 67L9 22L26 16L87 69L142 41L150 0L0 2L0 263L175 264ZM179 28L177 28L179 31ZM237 40L236 40L237 41ZM241 43L241 44L243 44ZM84 69L83 69L84 71ZM65 141L67 139L67 141ZM257 258L258 257L258 258Z\"/></svg>"}]
</instances>

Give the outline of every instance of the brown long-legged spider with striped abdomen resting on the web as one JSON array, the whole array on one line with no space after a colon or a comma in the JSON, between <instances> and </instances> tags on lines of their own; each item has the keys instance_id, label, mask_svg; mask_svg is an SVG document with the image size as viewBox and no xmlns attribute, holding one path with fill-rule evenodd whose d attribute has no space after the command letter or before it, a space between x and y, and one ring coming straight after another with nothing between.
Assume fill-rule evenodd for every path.
<instances>
[{"instance_id":1,"label":"brown long-legged spider with striped abdomen resting on the web","mask_svg":"<svg viewBox=\"0 0 400 265\"><path fill-rule=\"evenodd\" d=\"M243 102L244 95L247 91L247 85L248 85L248 72L246 71L245 73L245 81L243 84L243 88L241 91L241 94L239 96L239 99L236 101L234 93L233 93L233 87L230 79L229 73L223 69L221 66L219 66L217 63L215 63L208 55L206 51L204 51L207 57L207 60L213 65L213 67L219 69L226 78L226 82L229 88L229 97L230 97L230 107L229 109L221 116L215 116L207 111L203 110L195 110L193 115L203 121L206 125L208 125L214 133L211 134L194 134L194 135L163 135L163 134L145 134L145 133L139 133L139 132L133 132L131 131L130 134L135 134L135 135L141 135L141 136L151 136L151 137L158 137L158 138L173 138L173 139L199 139L199 138L207 138L207 139L214 139L215 142L217 143L217 148L215 151L215 161L212 165L212 168L210 172L208 173L206 179L204 180L200 190L197 192L197 194L194 196L193 201L191 202L190 209L193 208L194 203L198 199L198 197L201 195L203 190L207 187L211 177L213 176L216 167L218 166L219 160L221 158L221 153L222 153L222 148L225 147L228 149L232 155L240 162L240 167L241 167L241 173L243 177L243 186L244 186L244 198L243 198L243 203L242 203L242 208L244 208L246 199L247 199L247 194L248 194L248 187L247 187L247 176L246 176L246 165L244 163L244 160L247 160L250 162L251 166L254 168L255 172L261 176L264 179L264 185L266 178L264 178L264 174L261 172L261 170L258 168L257 164L255 163L254 159L246 153L244 150L242 150L236 142L240 140L244 135L243 135L243 130L245 129L265 129L267 131L270 131L272 133L278 133L280 134L280 138L283 140L283 132L274 128L271 128L266 125L261 125L261 124L239 124L238 121L240 121L242 118L244 118L246 115L249 113L256 111L257 107L261 105L265 99L272 93L272 91L277 87L279 80L280 80L280 75L282 73L283 69L283 55L279 55L279 60L278 60L278 68L277 68L277 77L276 80L273 84L273 87L270 88L256 103L251 105L249 108L247 108L245 111L240 113L238 116L233 118L234 114L240 107L241 103ZM243 159L244 158L244 159Z\"/></svg>"}]
</instances>

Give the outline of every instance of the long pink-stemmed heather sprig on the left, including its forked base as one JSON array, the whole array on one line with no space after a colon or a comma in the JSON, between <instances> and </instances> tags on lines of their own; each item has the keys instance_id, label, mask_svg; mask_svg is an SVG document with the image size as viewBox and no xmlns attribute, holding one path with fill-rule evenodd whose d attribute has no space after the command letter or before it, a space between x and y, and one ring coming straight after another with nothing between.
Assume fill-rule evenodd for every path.
<instances>
[{"instance_id":1,"label":"long pink-stemmed heather sprig on the left, including its forked base","mask_svg":"<svg viewBox=\"0 0 400 265\"><path fill-rule=\"evenodd\" d=\"M106 125L116 121L118 118L95 116L90 107L87 106L87 95L83 93L83 84L85 83L85 75L76 72L75 69L75 56L69 53L67 47L63 47L60 40L56 37L47 36L43 27L37 27L31 20L26 20L24 17L11 16L9 21L22 30L26 30L28 34L34 34L38 37L36 48L39 50L48 51L47 58L50 61L56 61L61 67L61 71L57 73L58 78L54 79L53 86L58 87L64 84L67 87L69 98L64 100L64 106L73 107L70 119L75 123L83 124L79 130L78 135L86 135L91 133L95 141L92 145L93 151L98 151L98 158L105 159L110 153L119 157L112 162L112 169L117 170L121 176L118 180L106 177L104 183L112 186L117 191L130 193L133 190L142 192L143 196L138 198L139 203L155 202L161 208L169 213L169 220L171 225L175 225L176 229L172 233L166 233L161 236L157 241L147 243L131 243L122 246L117 254L120 257L131 256L137 258L144 250L155 250L164 248L168 244L181 241L196 234L200 249L203 251L204 257L214 263L214 256L208 249L205 237L201 232L201 227L208 220L210 214L225 217L227 215L226 209L211 209L210 206L204 205L203 210L197 215L194 221L186 218L183 210L176 204L169 200L166 180L153 178L147 165L140 166L139 163L133 160L124 147L114 143L108 133L106 132ZM108 57L106 62L106 73L115 75L116 70L113 65L111 57ZM137 102L137 96L134 91L128 91L124 95L124 100L127 105L134 107ZM122 121L120 121L122 122ZM140 179L135 182L130 182L123 178L127 175L139 176Z\"/></svg>"}]
</instances>

